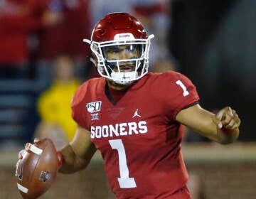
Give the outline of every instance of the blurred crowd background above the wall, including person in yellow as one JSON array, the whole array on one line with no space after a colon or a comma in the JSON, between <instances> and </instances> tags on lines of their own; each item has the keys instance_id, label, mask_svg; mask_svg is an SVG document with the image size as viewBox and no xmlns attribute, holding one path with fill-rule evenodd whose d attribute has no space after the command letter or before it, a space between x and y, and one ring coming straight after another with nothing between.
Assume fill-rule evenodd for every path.
<instances>
[{"instance_id":1,"label":"blurred crowd background above the wall, including person in yellow","mask_svg":"<svg viewBox=\"0 0 256 199\"><path fill-rule=\"evenodd\" d=\"M188 76L202 107L233 107L242 120L238 141L256 141L256 1L0 0L1 150L34 137L49 136L57 148L72 139L70 100L80 83L98 76L82 39L115 11L154 33L152 72ZM185 131L184 142L207 142Z\"/></svg>"}]
</instances>

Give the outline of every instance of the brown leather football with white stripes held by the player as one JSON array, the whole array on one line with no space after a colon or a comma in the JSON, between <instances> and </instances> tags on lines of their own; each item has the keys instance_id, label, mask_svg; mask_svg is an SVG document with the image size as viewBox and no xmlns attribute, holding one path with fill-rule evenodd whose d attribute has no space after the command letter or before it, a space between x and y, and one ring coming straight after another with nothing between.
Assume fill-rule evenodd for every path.
<instances>
[{"instance_id":1,"label":"brown leather football with white stripes held by the player","mask_svg":"<svg viewBox=\"0 0 256 199\"><path fill-rule=\"evenodd\" d=\"M50 139L31 144L16 164L18 190L25 199L38 198L50 188L58 173L57 151Z\"/></svg>"}]
</instances>

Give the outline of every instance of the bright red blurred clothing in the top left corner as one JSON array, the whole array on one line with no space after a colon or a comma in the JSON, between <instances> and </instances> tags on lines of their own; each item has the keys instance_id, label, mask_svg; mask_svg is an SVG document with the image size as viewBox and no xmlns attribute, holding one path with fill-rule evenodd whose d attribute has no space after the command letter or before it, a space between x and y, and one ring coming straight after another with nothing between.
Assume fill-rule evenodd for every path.
<instances>
[{"instance_id":1,"label":"bright red blurred clothing in the top left corner","mask_svg":"<svg viewBox=\"0 0 256 199\"><path fill-rule=\"evenodd\" d=\"M28 34L41 28L37 0L9 0L0 10L0 65L28 60Z\"/></svg>"}]
</instances>

